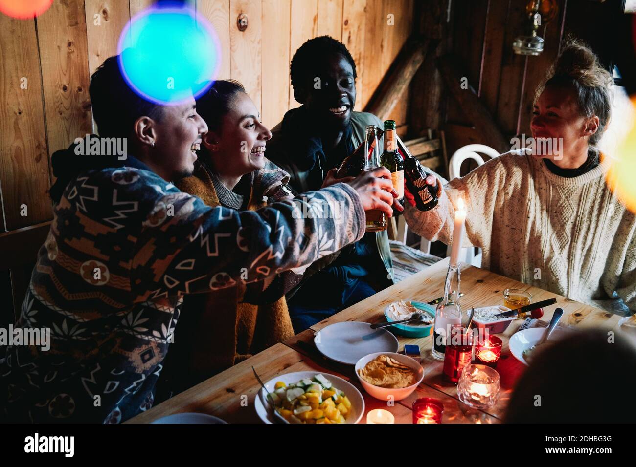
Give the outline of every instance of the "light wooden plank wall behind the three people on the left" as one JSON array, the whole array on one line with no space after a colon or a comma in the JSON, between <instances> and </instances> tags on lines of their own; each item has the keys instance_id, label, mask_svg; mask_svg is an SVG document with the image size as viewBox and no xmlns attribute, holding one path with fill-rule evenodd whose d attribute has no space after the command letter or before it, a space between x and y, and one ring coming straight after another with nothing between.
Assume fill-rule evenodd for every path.
<instances>
[{"instance_id":1,"label":"light wooden plank wall behind the three people on the left","mask_svg":"<svg viewBox=\"0 0 636 467\"><path fill-rule=\"evenodd\" d=\"M219 36L219 77L241 81L270 127L299 105L289 83L289 60L307 39L322 34L343 41L356 60L356 110L362 109L411 34L414 8L414 0L189 3ZM55 0L34 20L0 14L0 232L51 219L50 155L93 131L90 75L116 53L131 16L151 4ZM245 32L237 29L239 13L249 20ZM391 116L403 133L407 104L408 94Z\"/></svg>"}]
</instances>

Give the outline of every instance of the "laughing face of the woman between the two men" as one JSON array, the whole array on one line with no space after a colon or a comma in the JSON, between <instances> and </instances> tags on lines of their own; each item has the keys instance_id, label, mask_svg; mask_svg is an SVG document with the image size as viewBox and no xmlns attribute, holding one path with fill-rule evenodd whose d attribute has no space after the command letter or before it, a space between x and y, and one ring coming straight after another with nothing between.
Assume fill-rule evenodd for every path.
<instances>
[{"instance_id":1,"label":"laughing face of the woman between the two men","mask_svg":"<svg viewBox=\"0 0 636 467\"><path fill-rule=\"evenodd\" d=\"M232 99L230 111L221 119L219 132L210 132L204 144L217 172L239 177L265 166L265 144L272 132L261 123L256 105L244 92ZM216 142L209 146L210 142Z\"/></svg>"}]
</instances>

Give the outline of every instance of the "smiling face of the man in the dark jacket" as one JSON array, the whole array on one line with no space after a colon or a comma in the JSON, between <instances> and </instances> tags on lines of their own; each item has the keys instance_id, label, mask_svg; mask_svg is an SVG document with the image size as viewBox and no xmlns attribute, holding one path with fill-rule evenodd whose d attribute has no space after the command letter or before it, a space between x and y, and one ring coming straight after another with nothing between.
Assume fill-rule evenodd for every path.
<instances>
[{"instance_id":1,"label":"smiling face of the man in the dark jacket","mask_svg":"<svg viewBox=\"0 0 636 467\"><path fill-rule=\"evenodd\" d=\"M356 105L353 68L344 55L334 53L317 62L316 70L317 76L310 76L305 82L303 104L312 113L313 123L344 130Z\"/></svg>"}]
</instances>

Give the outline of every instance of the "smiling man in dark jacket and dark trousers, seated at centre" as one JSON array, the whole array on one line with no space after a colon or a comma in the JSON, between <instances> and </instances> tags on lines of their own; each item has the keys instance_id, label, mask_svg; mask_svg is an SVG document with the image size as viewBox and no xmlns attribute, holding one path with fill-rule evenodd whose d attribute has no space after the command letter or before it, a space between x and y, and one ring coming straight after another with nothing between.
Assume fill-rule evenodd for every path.
<instances>
[{"instance_id":1,"label":"smiling man in dark jacket and dark trousers, seated at centre","mask_svg":"<svg viewBox=\"0 0 636 467\"><path fill-rule=\"evenodd\" d=\"M375 115L354 112L356 76L347 48L329 36L310 39L294 54L291 84L294 98L303 105L288 111L272 129L267 156L290 174L296 192L333 182L329 170L363 142L366 126L382 127ZM382 147L381 141L378 144ZM334 257L319 272L305 274L309 277L300 288L287 295L296 332L394 283L386 231L366 234Z\"/></svg>"}]
</instances>

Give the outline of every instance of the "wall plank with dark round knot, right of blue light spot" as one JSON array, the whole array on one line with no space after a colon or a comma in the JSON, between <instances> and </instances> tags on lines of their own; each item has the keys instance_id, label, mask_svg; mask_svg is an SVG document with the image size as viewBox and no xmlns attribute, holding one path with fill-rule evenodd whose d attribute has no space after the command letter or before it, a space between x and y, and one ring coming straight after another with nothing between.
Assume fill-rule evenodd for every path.
<instances>
[{"instance_id":1,"label":"wall plank with dark round knot, right of blue light spot","mask_svg":"<svg viewBox=\"0 0 636 467\"><path fill-rule=\"evenodd\" d=\"M247 15L247 29L240 31L237 18ZM230 78L240 81L256 109L261 111L261 2L230 0Z\"/></svg>"}]
</instances>

